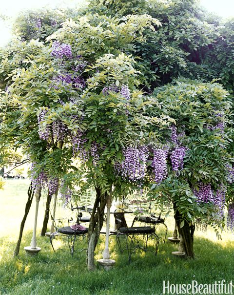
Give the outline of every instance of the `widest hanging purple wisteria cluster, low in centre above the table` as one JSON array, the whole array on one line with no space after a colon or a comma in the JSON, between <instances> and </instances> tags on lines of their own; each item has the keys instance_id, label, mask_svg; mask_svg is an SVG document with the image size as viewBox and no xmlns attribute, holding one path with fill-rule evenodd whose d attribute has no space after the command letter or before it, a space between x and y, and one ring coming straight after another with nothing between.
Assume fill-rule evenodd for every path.
<instances>
[{"instance_id":1,"label":"widest hanging purple wisteria cluster, low in centre above the table","mask_svg":"<svg viewBox=\"0 0 234 295\"><path fill-rule=\"evenodd\" d=\"M116 165L118 173L130 182L144 179L148 154L148 149L145 146L124 148L124 161L122 164Z\"/></svg>"}]
</instances>

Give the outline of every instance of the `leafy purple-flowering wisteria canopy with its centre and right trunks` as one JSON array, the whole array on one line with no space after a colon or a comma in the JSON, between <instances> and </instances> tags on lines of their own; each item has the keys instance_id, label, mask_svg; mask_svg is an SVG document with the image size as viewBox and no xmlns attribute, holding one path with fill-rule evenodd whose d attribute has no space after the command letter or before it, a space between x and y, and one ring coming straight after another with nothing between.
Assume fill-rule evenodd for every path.
<instances>
[{"instance_id":1,"label":"leafy purple-flowering wisteria canopy with its centre and right trunks","mask_svg":"<svg viewBox=\"0 0 234 295\"><path fill-rule=\"evenodd\" d=\"M229 206L233 229L232 96L208 82L213 55L230 67L218 53L232 46L228 27L215 47L216 23L189 0L101 1L58 30L48 15L46 30L37 14L25 22L39 39L25 41L22 24L21 40L1 52L2 145L29 157L34 188L60 186L65 202L95 189L89 268L109 194L173 204L190 257L197 220L221 227ZM231 87L232 70L223 81Z\"/></svg>"}]
</instances>

